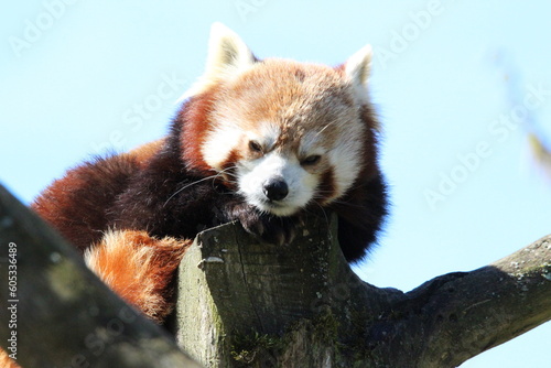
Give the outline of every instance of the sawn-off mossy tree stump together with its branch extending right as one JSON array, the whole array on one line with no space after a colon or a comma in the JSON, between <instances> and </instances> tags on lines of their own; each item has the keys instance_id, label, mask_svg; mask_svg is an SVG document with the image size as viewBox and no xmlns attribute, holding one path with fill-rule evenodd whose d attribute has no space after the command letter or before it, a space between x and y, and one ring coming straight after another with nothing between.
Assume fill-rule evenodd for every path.
<instances>
[{"instance_id":1,"label":"sawn-off mossy tree stump together with its branch extending right","mask_svg":"<svg viewBox=\"0 0 551 368\"><path fill-rule=\"evenodd\" d=\"M184 256L179 344L206 367L455 367L551 318L551 236L411 292L346 264L336 221L310 218L291 246L238 225Z\"/></svg>"}]
</instances>

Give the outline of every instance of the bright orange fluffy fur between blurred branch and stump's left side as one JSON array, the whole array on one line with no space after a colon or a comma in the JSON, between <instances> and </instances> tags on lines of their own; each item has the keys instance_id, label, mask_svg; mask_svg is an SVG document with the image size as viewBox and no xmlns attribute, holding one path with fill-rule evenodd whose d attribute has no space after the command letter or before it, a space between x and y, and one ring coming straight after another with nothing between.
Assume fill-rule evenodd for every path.
<instances>
[{"instance_id":1,"label":"bright orange fluffy fur between blurred branch and stump's left side","mask_svg":"<svg viewBox=\"0 0 551 368\"><path fill-rule=\"evenodd\" d=\"M155 239L145 231L109 231L85 262L111 290L161 323L172 311L172 280L191 240Z\"/></svg>"}]
</instances>

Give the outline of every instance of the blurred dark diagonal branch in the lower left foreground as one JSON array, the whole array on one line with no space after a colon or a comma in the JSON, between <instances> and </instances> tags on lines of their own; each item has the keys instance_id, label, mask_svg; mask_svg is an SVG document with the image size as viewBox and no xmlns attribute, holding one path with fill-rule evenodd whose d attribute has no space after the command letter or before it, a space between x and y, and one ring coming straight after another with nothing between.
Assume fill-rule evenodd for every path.
<instances>
[{"instance_id":1,"label":"blurred dark diagonal branch in the lower left foreground","mask_svg":"<svg viewBox=\"0 0 551 368\"><path fill-rule=\"evenodd\" d=\"M0 346L22 367L199 367L1 185L0 271Z\"/></svg>"}]
</instances>

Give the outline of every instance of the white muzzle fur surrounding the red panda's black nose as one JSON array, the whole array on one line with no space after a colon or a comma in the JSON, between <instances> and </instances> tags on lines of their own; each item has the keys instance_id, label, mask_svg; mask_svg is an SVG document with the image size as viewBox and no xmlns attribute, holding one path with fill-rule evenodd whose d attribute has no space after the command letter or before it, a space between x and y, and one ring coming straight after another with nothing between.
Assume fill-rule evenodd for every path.
<instances>
[{"instance_id":1,"label":"white muzzle fur surrounding the red panda's black nose","mask_svg":"<svg viewBox=\"0 0 551 368\"><path fill-rule=\"evenodd\" d=\"M303 208L314 196L317 177L305 171L294 156L270 152L264 156L239 162L237 165L239 193L247 203L276 216L290 216ZM281 201L270 201L264 185L270 181L284 181L289 194Z\"/></svg>"}]
</instances>

